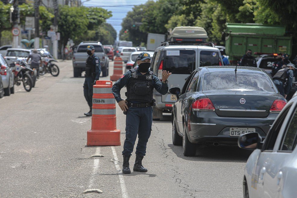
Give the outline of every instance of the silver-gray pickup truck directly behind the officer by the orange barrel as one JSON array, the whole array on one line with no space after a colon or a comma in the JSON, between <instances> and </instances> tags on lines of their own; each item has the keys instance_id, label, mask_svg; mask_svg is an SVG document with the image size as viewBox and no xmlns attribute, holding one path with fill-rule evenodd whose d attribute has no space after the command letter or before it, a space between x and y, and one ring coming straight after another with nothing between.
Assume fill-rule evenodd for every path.
<instances>
[{"instance_id":1,"label":"silver-gray pickup truck directly behind the officer by the orange barrel","mask_svg":"<svg viewBox=\"0 0 297 198\"><path fill-rule=\"evenodd\" d=\"M80 43L76 50L73 53L73 76L79 77L81 76L81 72L86 70L86 60L88 58L87 54L87 46L92 45L95 48L95 55L99 57L101 63L101 73L102 76L108 76L108 65L109 58L104 51L104 47L100 42L91 43L91 42L82 42Z\"/></svg>"}]
</instances>

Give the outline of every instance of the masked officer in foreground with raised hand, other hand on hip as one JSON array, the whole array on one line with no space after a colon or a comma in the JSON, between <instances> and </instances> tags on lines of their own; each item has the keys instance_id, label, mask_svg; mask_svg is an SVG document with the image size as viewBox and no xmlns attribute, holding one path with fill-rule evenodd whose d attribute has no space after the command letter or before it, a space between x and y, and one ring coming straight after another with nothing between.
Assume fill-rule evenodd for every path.
<instances>
[{"instance_id":1,"label":"masked officer in foreground with raised hand, other hand on hip","mask_svg":"<svg viewBox=\"0 0 297 198\"><path fill-rule=\"evenodd\" d=\"M168 92L168 77L171 73L162 72L162 82L149 70L151 66L149 53L140 53L136 59L139 65L136 70L130 69L113 85L111 91L118 102L121 110L126 114L126 139L124 142L123 173L131 173L129 159L133 152L134 144L138 134L136 147L136 159L133 171L147 172L142 166L142 159L146 153L146 144L151 135L152 129L152 106L155 106L153 99L154 88L162 95ZM123 100L120 90L127 86L127 99Z\"/></svg>"}]
</instances>

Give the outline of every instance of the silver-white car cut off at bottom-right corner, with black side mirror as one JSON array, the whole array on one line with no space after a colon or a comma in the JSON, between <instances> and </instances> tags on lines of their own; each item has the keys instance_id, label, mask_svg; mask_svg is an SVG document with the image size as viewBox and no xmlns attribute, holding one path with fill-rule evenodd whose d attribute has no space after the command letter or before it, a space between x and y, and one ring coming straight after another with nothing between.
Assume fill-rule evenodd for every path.
<instances>
[{"instance_id":1,"label":"silver-white car cut off at bottom-right corner, with black side mirror","mask_svg":"<svg viewBox=\"0 0 297 198\"><path fill-rule=\"evenodd\" d=\"M283 108L264 142L258 133L242 134L238 146L252 149L243 179L244 198L297 197L297 97Z\"/></svg>"}]
</instances>

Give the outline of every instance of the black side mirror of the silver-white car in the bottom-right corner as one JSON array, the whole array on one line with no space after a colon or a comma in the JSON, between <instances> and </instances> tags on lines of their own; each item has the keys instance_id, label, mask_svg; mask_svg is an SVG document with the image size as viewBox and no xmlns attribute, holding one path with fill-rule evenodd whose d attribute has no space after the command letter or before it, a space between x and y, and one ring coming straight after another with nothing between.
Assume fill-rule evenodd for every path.
<instances>
[{"instance_id":1,"label":"black side mirror of the silver-white car in the bottom-right corner","mask_svg":"<svg viewBox=\"0 0 297 198\"><path fill-rule=\"evenodd\" d=\"M238 147L241 149L260 149L262 146L262 138L259 133L244 133L238 137L237 141Z\"/></svg>"}]
</instances>

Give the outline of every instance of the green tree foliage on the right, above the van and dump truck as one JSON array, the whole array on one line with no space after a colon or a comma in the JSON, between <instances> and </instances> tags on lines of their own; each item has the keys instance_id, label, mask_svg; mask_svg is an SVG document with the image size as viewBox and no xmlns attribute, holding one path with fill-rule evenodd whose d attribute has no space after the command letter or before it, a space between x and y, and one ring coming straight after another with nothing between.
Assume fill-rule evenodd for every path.
<instances>
[{"instance_id":1,"label":"green tree foliage on the right, above the van and dump truck","mask_svg":"<svg viewBox=\"0 0 297 198\"><path fill-rule=\"evenodd\" d=\"M134 6L122 22L120 40L146 43L148 33L168 34L177 26L200 26L208 40L221 40L226 23L283 25L297 39L295 0L158 0ZM137 36L136 36L137 35Z\"/></svg>"}]
</instances>

